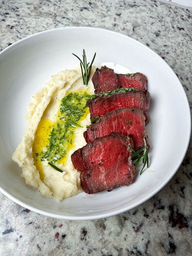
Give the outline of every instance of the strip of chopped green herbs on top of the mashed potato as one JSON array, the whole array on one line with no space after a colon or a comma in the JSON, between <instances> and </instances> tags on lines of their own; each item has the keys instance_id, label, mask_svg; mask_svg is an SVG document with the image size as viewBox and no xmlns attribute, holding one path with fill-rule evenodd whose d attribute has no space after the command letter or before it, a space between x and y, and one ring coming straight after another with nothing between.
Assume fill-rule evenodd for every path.
<instances>
[{"instance_id":1,"label":"strip of chopped green herbs on top of the mashed potato","mask_svg":"<svg viewBox=\"0 0 192 256\"><path fill-rule=\"evenodd\" d=\"M87 110L87 100L91 95L86 92L76 91L68 94L61 100L57 113L56 125L49 127L48 143L44 150L39 153L41 161L47 160L54 163L67 156L70 146L74 142L74 132L80 125Z\"/></svg>"}]
</instances>

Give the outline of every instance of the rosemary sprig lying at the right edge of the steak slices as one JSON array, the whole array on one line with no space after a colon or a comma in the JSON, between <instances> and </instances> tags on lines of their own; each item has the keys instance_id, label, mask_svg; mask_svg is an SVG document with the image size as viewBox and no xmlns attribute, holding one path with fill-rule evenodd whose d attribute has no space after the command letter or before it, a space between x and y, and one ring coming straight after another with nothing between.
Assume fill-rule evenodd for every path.
<instances>
[{"instance_id":1,"label":"rosemary sprig lying at the right edge of the steak slices","mask_svg":"<svg viewBox=\"0 0 192 256\"><path fill-rule=\"evenodd\" d=\"M137 156L137 161L134 163L135 169L137 168L137 165L141 161L143 162L143 167L141 169L140 175L142 174L142 171L145 168L146 163L147 163L147 168L149 167L149 158L148 158L148 153L147 153L147 145L146 145L145 137L143 140L144 140L145 146L143 148L141 148L140 150L137 150L136 152L133 150L133 148L131 146L129 146L131 148L131 150L133 151L133 155L131 157ZM143 152L143 153L141 155L139 155L141 152Z\"/></svg>"}]
</instances>

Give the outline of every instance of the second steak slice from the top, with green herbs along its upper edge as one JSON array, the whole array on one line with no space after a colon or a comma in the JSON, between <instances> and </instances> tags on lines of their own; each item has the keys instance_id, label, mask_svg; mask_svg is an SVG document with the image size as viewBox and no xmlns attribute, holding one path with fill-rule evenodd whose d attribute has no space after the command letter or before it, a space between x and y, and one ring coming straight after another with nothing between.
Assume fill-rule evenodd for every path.
<instances>
[{"instance_id":1,"label":"second steak slice from the top, with green herbs along its upper edge","mask_svg":"<svg viewBox=\"0 0 192 256\"><path fill-rule=\"evenodd\" d=\"M119 108L139 108L143 110L149 109L150 94L146 90L121 92L113 95L89 99L87 106L91 114L91 119L94 116L101 116L107 112Z\"/></svg>"}]
</instances>

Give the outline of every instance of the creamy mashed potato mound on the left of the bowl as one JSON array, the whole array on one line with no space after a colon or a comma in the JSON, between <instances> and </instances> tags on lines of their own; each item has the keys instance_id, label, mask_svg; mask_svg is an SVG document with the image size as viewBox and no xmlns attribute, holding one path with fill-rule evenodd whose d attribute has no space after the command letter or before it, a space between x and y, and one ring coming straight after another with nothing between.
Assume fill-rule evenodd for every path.
<instances>
[{"instance_id":1,"label":"creamy mashed potato mound on the left of the bowl","mask_svg":"<svg viewBox=\"0 0 192 256\"><path fill-rule=\"evenodd\" d=\"M96 67L92 66L91 77L95 69ZM31 97L25 117L28 122L26 131L12 156L12 159L22 168L23 174L21 175L26 183L38 189L43 196L54 198L58 202L82 191L80 175L72 165L71 155L75 150L86 145L83 132L86 130L86 125L90 124L87 107L85 114L77 122L78 126L71 125L74 127L71 140L68 140L68 145L64 145L68 148L67 154L61 156L62 154L59 153L60 155L56 154L51 158L52 163L54 162L54 165L63 172L50 167L48 165L50 160L41 155L45 156L48 152L47 144L50 141L51 131L53 133L54 127L60 129L57 121L61 100L74 91L82 95L94 94L91 77L88 86L84 85L79 65L75 70L64 70L51 76L45 87Z\"/></svg>"}]
</instances>

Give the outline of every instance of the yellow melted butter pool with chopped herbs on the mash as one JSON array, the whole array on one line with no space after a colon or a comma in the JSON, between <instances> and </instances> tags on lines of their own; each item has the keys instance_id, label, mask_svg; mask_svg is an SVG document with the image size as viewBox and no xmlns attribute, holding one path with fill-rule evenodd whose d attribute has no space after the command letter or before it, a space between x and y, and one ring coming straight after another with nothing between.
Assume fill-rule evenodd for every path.
<instances>
[{"instance_id":1,"label":"yellow melted butter pool with chopped herbs on the mash","mask_svg":"<svg viewBox=\"0 0 192 256\"><path fill-rule=\"evenodd\" d=\"M90 97L86 90L68 92L60 101L56 122L40 121L33 143L33 158L42 181L45 176L43 164L57 162L65 165L68 152L75 147L75 130L82 128L80 123L89 113L86 102Z\"/></svg>"}]
</instances>

